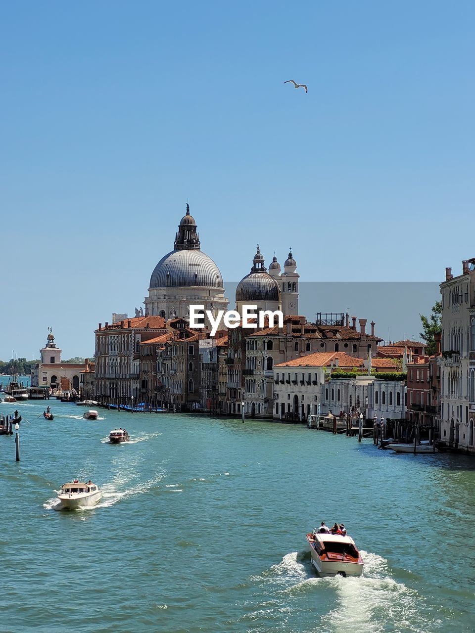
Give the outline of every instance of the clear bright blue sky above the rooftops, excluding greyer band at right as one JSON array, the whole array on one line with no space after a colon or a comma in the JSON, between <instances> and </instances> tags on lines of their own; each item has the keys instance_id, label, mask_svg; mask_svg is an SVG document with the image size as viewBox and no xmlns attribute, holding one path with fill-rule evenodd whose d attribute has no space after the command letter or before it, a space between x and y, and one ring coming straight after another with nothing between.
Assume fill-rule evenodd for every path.
<instances>
[{"instance_id":1,"label":"clear bright blue sky above the rooftops, excluding greyer band at right","mask_svg":"<svg viewBox=\"0 0 475 633\"><path fill-rule=\"evenodd\" d=\"M91 354L187 199L225 280L257 242L306 281L458 271L474 24L468 1L3 3L0 358L48 325Z\"/></svg>"}]
</instances>

